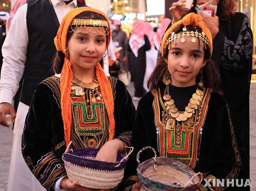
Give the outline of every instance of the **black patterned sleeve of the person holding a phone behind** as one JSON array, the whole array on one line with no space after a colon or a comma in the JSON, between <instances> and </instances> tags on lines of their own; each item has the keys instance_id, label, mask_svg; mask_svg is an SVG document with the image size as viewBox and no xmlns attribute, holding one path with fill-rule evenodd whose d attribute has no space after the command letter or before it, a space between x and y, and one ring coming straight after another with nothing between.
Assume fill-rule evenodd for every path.
<instances>
[{"instance_id":1,"label":"black patterned sleeve of the person holding a phone behind","mask_svg":"<svg viewBox=\"0 0 256 191\"><path fill-rule=\"evenodd\" d=\"M217 37L217 38L216 38ZM216 56L221 61L221 68L226 70L232 70L235 72L243 71L247 68L246 64L252 57L252 30L248 17L245 17L240 29L238 38L235 41L229 40L226 36L219 31L213 40L214 51ZM223 49L218 49L216 46L223 45ZM221 51L221 52L220 52ZM219 52L219 54L217 54ZM218 61L216 62L218 63Z\"/></svg>"}]
</instances>

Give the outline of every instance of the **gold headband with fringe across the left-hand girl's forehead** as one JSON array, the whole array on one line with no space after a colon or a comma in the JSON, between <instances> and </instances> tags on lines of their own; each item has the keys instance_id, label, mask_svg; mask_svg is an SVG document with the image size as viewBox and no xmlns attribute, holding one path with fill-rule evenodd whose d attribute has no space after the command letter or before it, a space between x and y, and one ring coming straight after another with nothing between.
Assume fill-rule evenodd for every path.
<instances>
[{"instance_id":1,"label":"gold headband with fringe across the left-hand girl's forehead","mask_svg":"<svg viewBox=\"0 0 256 191\"><path fill-rule=\"evenodd\" d=\"M74 27L75 26L75 27ZM93 26L93 28L87 28L87 26ZM102 19L73 19L70 25L71 31L69 33L99 33L101 35L109 34L109 24ZM104 32L102 32L104 28Z\"/></svg>"}]
</instances>

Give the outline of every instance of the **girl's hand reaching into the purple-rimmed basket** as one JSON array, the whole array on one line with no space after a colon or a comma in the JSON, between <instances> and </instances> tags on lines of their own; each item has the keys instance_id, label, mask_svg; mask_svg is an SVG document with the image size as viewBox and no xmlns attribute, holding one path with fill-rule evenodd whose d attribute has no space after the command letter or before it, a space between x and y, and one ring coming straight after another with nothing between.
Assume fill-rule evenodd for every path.
<instances>
[{"instance_id":1,"label":"girl's hand reaching into the purple-rimmed basket","mask_svg":"<svg viewBox=\"0 0 256 191\"><path fill-rule=\"evenodd\" d=\"M116 162L117 152L123 151L123 144L116 140L107 141L96 155L95 160L106 161L106 162Z\"/></svg>"}]
</instances>

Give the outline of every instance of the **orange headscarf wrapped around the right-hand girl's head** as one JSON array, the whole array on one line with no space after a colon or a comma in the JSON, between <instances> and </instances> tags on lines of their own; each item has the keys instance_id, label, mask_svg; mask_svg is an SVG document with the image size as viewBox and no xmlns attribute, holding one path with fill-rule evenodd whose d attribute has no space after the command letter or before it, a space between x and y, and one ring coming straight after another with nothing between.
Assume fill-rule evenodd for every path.
<instances>
[{"instance_id":1,"label":"orange headscarf wrapped around the right-hand girl's head","mask_svg":"<svg viewBox=\"0 0 256 191\"><path fill-rule=\"evenodd\" d=\"M210 55L212 56L212 35L210 33L209 28L206 26L205 23L203 23L202 18L195 14L195 13L189 13L183 19L177 21L176 23L172 24L172 26L165 32L165 35L163 35L162 45L161 45L161 54L164 56L164 49L165 49L165 42L169 38L170 34L179 26L198 26L203 30L205 33L205 36L209 40L210 44Z\"/></svg>"}]
</instances>

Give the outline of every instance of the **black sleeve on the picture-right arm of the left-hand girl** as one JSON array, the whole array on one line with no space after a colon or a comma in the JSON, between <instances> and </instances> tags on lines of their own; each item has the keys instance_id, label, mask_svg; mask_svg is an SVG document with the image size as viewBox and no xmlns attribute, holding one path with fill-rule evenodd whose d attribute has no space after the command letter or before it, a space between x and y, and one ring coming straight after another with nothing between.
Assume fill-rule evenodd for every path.
<instances>
[{"instance_id":1,"label":"black sleeve on the picture-right arm of the left-hand girl","mask_svg":"<svg viewBox=\"0 0 256 191\"><path fill-rule=\"evenodd\" d=\"M119 101L119 124L116 124L116 127L119 126L119 134L116 139L120 139L126 142L129 146L132 139L132 125L135 116L135 107L132 102L132 97L130 96L125 85L121 81L117 81L117 88L122 90L122 94L118 95Z\"/></svg>"}]
</instances>

